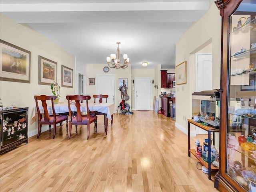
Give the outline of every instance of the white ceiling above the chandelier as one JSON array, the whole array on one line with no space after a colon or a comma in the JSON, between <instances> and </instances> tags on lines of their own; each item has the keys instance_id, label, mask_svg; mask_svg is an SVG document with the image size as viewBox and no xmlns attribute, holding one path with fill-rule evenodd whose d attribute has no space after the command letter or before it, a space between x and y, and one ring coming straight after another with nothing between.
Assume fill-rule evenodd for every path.
<instances>
[{"instance_id":1,"label":"white ceiling above the chandelier","mask_svg":"<svg viewBox=\"0 0 256 192\"><path fill-rule=\"evenodd\" d=\"M132 68L175 68L175 44L212 0L0 0L0 12L26 24L84 64L128 54ZM193 38L193 37L191 37ZM3 39L4 40L4 39ZM123 59L121 59L121 63Z\"/></svg>"}]
</instances>

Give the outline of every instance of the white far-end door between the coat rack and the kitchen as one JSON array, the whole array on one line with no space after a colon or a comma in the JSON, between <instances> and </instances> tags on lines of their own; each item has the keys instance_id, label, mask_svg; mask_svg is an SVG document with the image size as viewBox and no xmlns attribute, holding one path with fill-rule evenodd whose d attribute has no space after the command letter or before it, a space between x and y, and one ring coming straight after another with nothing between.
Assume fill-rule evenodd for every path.
<instances>
[{"instance_id":1,"label":"white far-end door between the coat rack and the kitchen","mask_svg":"<svg viewBox=\"0 0 256 192\"><path fill-rule=\"evenodd\" d=\"M136 110L151 110L151 78L135 78Z\"/></svg>"}]
</instances>

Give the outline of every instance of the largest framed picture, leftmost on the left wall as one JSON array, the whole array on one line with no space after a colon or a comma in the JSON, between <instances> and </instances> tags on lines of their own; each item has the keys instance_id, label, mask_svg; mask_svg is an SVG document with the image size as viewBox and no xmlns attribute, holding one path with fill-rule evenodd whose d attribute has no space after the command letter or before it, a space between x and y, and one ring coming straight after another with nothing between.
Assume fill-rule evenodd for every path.
<instances>
[{"instance_id":1,"label":"largest framed picture, leftmost on the left wall","mask_svg":"<svg viewBox=\"0 0 256 192\"><path fill-rule=\"evenodd\" d=\"M0 80L30 83L30 51L0 40Z\"/></svg>"}]
</instances>

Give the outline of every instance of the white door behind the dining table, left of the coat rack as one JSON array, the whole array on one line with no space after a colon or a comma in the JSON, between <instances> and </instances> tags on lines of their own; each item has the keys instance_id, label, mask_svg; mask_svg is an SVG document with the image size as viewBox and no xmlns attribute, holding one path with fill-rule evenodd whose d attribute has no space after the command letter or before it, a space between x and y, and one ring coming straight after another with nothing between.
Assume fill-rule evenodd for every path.
<instances>
[{"instance_id":1,"label":"white door behind the dining table, left of the coat rack","mask_svg":"<svg viewBox=\"0 0 256 192\"><path fill-rule=\"evenodd\" d=\"M108 102L115 102L115 75L97 75L97 94L108 95ZM96 102L98 102L96 100Z\"/></svg>"}]
</instances>

